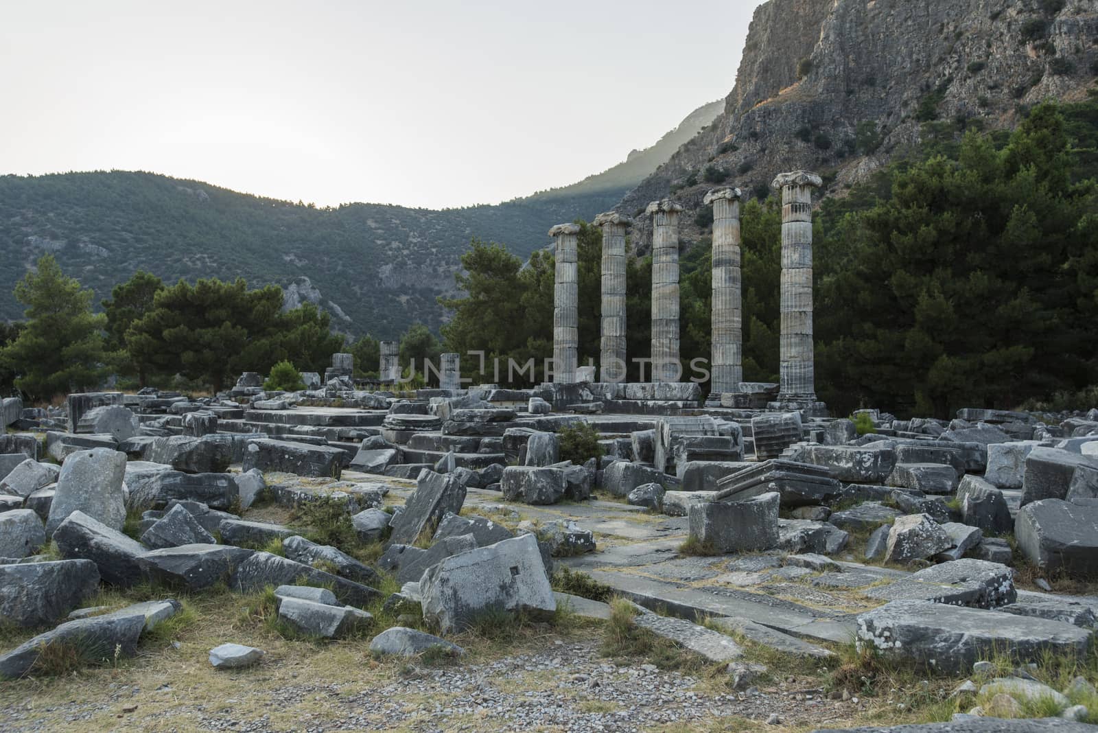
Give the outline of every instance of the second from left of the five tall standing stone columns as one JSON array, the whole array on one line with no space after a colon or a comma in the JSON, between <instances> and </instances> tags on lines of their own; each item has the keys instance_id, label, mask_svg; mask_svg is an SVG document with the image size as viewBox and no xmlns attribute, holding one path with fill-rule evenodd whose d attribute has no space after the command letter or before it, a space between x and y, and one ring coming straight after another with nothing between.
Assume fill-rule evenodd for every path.
<instances>
[{"instance_id":1,"label":"second from left of the five tall standing stone columns","mask_svg":"<svg viewBox=\"0 0 1098 733\"><path fill-rule=\"evenodd\" d=\"M595 217L595 226L603 227L602 382L625 382L625 230L631 224L631 218L617 212Z\"/></svg>"}]
</instances>

